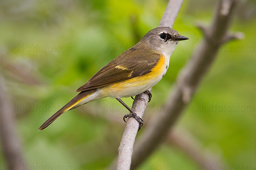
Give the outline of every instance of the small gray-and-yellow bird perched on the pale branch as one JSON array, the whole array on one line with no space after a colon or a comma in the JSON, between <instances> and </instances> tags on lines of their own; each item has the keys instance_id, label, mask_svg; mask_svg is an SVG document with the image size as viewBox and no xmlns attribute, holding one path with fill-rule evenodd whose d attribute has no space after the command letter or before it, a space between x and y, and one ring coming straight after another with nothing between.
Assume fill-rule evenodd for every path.
<instances>
[{"instance_id":1,"label":"small gray-and-yellow bird perched on the pale branch","mask_svg":"<svg viewBox=\"0 0 256 170\"><path fill-rule=\"evenodd\" d=\"M38 131L48 127L63 113L105 97L115 98L127 108L130 114L124 116L124 121L125 118L134 117L139 122L140 130L143 119L121 98L145 92L150 101L152 94L148 89L166 74L170 57L178 42L188 39L170 27L157 27L148 31L136 45L113 59L78 88L76 92L79 94L47 119Z\"/></svg>"}]
</instances>

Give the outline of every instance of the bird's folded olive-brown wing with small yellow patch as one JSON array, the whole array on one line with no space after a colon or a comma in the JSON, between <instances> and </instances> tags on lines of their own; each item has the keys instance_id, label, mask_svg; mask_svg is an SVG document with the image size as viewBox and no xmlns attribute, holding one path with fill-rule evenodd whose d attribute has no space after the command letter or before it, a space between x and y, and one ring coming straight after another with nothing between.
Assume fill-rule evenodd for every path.
<instances>
[{"instance_id":1,"label":"bird's folded olive-brown wing with small yellow patch","mask_svg":"<svg viewBox=\"0 0 256 170\"><path fill-rule=\"evenodd\" d=\"M101 68L86 84L78 88L77 92L105 87L150 73L157 65L160 54L151 48L137 48L137 45Z\"/></svg>"}]
</instances>

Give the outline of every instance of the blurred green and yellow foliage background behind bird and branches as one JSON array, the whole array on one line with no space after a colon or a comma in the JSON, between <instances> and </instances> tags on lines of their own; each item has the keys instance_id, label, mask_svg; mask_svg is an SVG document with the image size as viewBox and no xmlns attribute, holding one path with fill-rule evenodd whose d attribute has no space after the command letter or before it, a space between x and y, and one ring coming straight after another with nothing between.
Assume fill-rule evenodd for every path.
<instances>
[{"instance_id":1,"label":"blurred green and yellow foliage background behind bird and branches","mask_svg":"<svg viewBox=\"0 0 256 170\"><path fill-rule=\"evenodd\" d=\"M211 23L215 4L214 0L184 1L173 28L189 40L180 42L165 77L152 89L144 119L155 116L153 108L164 104L180 69L200 45L202 34L196 21ZM24 166L102 170L111 165L125 123L117 125L85 110L126 114L115 99L91 102L65 113L47 129L37 129L96 71L157 27L166 5L164 0L1 1L1 74L17 111ZM231 31L241 31L245 38L220 49L174 128L189 132L202 150L235 170L256 168L255 7L253 1L239 6ZM23 81L8 65L28 73L33 82ZM132 99L124 102L131 106ZM163 143L140 169L196 170L198 164L177 147ZM6 168L1 150L1 169Z\"/></svg>"}]
</instances>

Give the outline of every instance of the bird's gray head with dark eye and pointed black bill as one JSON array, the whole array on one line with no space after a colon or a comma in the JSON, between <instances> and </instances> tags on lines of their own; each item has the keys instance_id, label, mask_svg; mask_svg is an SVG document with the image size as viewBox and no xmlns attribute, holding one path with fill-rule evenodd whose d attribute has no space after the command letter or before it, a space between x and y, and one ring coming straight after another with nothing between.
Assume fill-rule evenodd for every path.
<instances>
[{"instance_id":1,"label":"bird's gray head with dark eye and pointed black bill","mask_svg":"<svg viewBox=\"0 0 256 170\"><path fill-rule=\"evenodd\" d=\"M170 57L177 47L178 42L188 39L188 37L180 36L177 31L170 27L157 27L148 31L140 41Z\"/></svg>"}]
</instances>

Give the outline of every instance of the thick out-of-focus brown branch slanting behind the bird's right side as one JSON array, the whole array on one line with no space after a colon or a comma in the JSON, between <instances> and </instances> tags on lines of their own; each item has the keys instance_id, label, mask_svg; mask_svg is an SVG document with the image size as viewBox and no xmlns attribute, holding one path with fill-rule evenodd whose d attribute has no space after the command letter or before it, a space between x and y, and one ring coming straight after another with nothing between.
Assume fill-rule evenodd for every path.
<instances>
[{"instance_id":1,"label":"thick out-of-focus brown branch slanting behind the bird's right side","mask_svg":"<svg viewBox=\"0 0 256 170\"><path fill-rule=\"evenodd\" d=\"M190 102L201 79L214 61L218 48L227 37L237 0L220 0L212 25L205 28L207 37L195 51L190 61L180 71L172 94L166 100L164 113L155 119L141 135L134 147L131 169L141 164L163 141L182 111ZM207 48L205 48L207 47ZM210 50L209 50L210 49Z\"/></svg>"}]
</instances>

